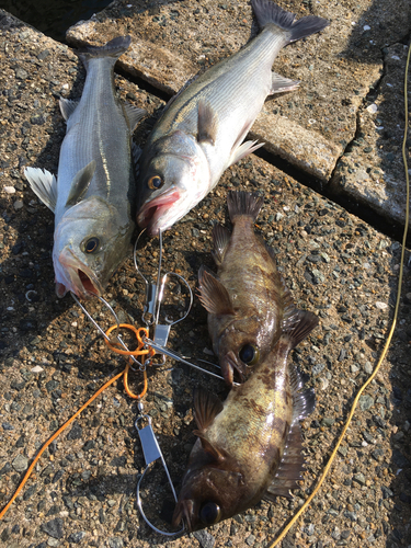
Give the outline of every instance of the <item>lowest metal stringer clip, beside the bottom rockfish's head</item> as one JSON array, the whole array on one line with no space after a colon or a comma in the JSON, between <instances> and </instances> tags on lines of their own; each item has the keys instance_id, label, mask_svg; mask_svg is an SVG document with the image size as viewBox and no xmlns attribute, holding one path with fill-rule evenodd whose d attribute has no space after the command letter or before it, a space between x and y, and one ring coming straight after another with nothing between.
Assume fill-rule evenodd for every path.
<instances>
[{"instance_id":1,"label":"lowest metal stringer clip, beside the bottom rockfish's head","mask_svg":"<svg viewBox=\"0 0 411 548\"><path fill-rule=\"evenodd\" d=\"M142 411L142 406L139 407L139 410ZM138 422L142 421L144 419L147 419L148 425L139 429ZM167 468L167 465L165 465L164 457L161 453L161 449L160 449L159 443L157 441L155 431L152 430L152 426L151 426L151 416L149 416L148 414L141 414L140 416L138 416L136 419L135 427L138 432L138 435L139 435L140 442L141 442L141 446L142 446L142 453L144 453L145 460L146 460L146 469L142 472L142 475L137 483L137 506L138 506L138 510L140 511L141 516L142 516L144 521L147 523L147 525L149 525L156 533L159 533L160 535L165 535L169 537L172 537L174 535L180 535L181 533L184 532L184 526L182 529L180 529L175 533L168 533L164 530L160 530L155 525L152 525L152 523L148 520L148 517L144 513L142 501L141 501L141 496L140 496L141 481L144 480L146 472L151 468L151 465L156 460L158 460L159 458L161 459L161 464L164 468L167 479L169 480L169 484L171 487L171 491L173 493L173 498L174 498L175 502L178 502L178 498L175 494L175 489L174 489L173 482L171 481L169 469Z\"/></svg>"}]
</instances>

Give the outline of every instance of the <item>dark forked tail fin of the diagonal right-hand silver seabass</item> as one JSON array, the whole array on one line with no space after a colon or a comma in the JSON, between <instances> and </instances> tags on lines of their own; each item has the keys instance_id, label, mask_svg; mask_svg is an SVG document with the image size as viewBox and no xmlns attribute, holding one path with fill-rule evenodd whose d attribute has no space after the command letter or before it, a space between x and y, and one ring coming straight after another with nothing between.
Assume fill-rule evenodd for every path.
<instances>
[{"instance_id":1,"label":"dark forked tail fin of the diagonal right-hand silver seabass","mask_svg":"<svg viewBox=\"0 0 411 548\"><path fill-rule=\"evenodd\" d=\"M252 0L252 8L261 28L274 24L288 32L287 44L318 33L330 24L330 21L316 15L308 15L296 21L294 13L283 10L271 0Z\"/></svg>"}]
</instances>

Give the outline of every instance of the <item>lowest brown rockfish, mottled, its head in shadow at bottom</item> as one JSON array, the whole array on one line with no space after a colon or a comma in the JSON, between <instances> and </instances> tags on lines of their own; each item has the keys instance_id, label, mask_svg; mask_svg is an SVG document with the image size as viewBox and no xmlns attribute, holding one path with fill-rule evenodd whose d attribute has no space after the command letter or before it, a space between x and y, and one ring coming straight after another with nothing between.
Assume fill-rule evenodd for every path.
<instances>
[{"instance_id":1,"label":"lowest brown rockfish, mottled, its head in shadow at bottom","mask_svg":"<svg viewBox=\"0 0 411 548\"><path fill-rule=\"evenodd\" d=\"M189 459L173 525L199 529L242 512L262 498L289 496L304 467L299 420L315 407L313 390L288 364L290 349L317 326L299 311L250 378L224 403L204 390L194 395L198 436Z\"/></svg>"}]
</instances>

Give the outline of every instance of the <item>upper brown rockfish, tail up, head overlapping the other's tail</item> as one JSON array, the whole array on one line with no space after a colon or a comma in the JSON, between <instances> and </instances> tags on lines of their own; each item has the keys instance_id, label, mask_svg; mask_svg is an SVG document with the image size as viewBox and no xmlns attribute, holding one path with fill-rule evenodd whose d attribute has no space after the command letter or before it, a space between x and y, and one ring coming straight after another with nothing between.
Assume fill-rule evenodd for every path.
<instances>
[{"instance_id":1,"label":"upper brown rockfish, tail up, head overlapping the other's tail","mask_svg":"<svg viewBox=\"0 0 411 548\"><path fill-rule=\"evenodd\" d=\"M229 192L230 233L213 228L213 256L218 276L202 266L199 299L208 313L208 331L226 381L240 380L265 361L297 310L277 272L274 252L254 232L263 198Z\"/></svg>"}]
</instances>

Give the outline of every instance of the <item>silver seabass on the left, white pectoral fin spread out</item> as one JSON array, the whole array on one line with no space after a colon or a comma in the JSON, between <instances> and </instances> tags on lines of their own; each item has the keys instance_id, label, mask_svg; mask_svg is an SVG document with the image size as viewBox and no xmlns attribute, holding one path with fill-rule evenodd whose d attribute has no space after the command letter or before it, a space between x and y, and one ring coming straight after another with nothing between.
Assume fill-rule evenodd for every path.
<instances>
[{"instance_id":1,"label":"silver seabass on the left, white pectoral fin spread out","mask_svg":"<svg viewBox=\"0 0 411 548\"><path fill-rule=\"evenodd\" d=\"M119 36L78 52L87 78L78 103L60 99L67 134L57 180L41 169L24 171L55 213L53 263L59 297L68 290L79 297L101 295L126 256L135 229L132 134L145 111L117 100L113 76L129 44L129 36Z\"/></svg>"}]
</instances>

